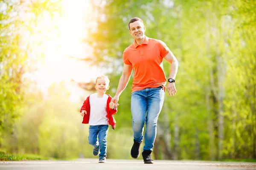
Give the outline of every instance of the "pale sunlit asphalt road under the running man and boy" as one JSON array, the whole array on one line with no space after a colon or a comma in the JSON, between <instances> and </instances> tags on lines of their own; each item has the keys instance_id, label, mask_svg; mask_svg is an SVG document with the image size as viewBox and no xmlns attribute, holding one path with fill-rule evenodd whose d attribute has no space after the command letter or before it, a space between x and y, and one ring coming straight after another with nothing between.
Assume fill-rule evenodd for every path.
<instances>
[{"instance_id":1,"label":"pale sunlit asphalt road under the running man and boy","mask_svg":"<svg viewBox=\"0 0 256 170\"><path fill-rule=\"evenodd\" d=\"M256 170L256 163L217 161L165 161L78 159L76 161L0 161L0 170Z\"/></svg>"}]
</instances>

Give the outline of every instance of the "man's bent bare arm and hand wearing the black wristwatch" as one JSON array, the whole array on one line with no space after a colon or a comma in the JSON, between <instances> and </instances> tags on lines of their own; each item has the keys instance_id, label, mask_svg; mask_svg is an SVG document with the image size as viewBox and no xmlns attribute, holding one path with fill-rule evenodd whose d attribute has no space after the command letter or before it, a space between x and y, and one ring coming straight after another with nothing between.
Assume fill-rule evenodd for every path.
<instances>
[{"instance_id":1,"label":"man's bent bare arm and hand wearing the black wristwatch","mask_svg":"<svg viewBox=\"0 0 256 170\"><path fill-rule=\"evenodd\" d=\"M171 51L169 51L169 53L166 55L166 57L164 57L164 59L166 59L166 61L168 61L171 64L170 74L168 79L169 78L175 79L178 71L178 66L179 66L178 60L172 54ZM167 82L167 89L170 96L174 96L177 92L174 82Z\"/></svg>"}]
</instances>

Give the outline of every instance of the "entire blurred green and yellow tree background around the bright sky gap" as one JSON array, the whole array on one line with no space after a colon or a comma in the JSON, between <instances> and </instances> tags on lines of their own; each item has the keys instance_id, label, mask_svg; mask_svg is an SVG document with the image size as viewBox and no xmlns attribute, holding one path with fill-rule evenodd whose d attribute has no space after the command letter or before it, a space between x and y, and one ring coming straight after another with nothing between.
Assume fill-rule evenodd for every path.
<instances>
[{"instance_id":1,"label":"entire blurred green and yellow tree background around the bright sky gap","mask_svg":"<svg viewBox=\"0 0 256 170\"><path fill-rule=\"evenodd\" d=\"M94 80L84 83L70 77L42 91L27 76L47 57L41 51L53 34L47 37L45 32L58 27L55 16L63 16L61 3L0 1L0 150L5 152L93 158L88 125L81 124L79 109L95 92ZM79 6L81 1L72 3ZM177 94L166 94L154 159L256 159L254 0L88 0L88 4L90 22L83 30L88 36L82 44L92 52L71 58L103 70L111 80L112 96L122 74L122 52L133 42L128 33L132 17L143 19L145 34L165 42L179 61ZM45 18L48 24L38 27ZM163 64L169 75L169 63ZM76 74L94 75L93 71ZM132 77L119 99L116 130L109 129L108 158L131 159L131 82ZM75 94L70 88L76 89ZM73 101L73 95L79 99Z\"/></svg>"}]
</instances>

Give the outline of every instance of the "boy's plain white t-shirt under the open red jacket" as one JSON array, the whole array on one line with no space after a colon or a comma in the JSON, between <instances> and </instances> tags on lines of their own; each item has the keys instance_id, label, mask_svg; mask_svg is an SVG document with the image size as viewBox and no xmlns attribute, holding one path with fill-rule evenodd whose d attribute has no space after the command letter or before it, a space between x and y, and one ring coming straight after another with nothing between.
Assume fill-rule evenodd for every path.
<instances>
[{"instance_id":1,"label":"boy's plain white t-shirt under the open red jacket","mask_svg":"<svg viewBox=\"0 0 256 170\"><path fill-rule=\"evenodd\" d=\"M107 116L107 100L108 95L97 97L97 94L91 94L90 102L90 119L89 125L108 125Z\"/></svg>"}]
</instances>

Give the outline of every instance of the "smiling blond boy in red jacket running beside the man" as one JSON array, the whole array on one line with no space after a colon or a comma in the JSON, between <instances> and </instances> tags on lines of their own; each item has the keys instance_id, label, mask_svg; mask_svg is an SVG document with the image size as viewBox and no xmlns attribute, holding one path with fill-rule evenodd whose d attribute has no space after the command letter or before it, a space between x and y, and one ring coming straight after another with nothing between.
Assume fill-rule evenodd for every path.
<instances>
[{"instance_id":1,"label":"smiling blond boy in red jacket running beside the man","mask_svg":"<svg viewBox=\"0 0 256 170\"><path fill-rule=\"evenodd\" d=\"M93 155L99 155L99 163L106 162L108 125L116 127L114 114L117 107L111 102L112 97L106 94L109 89L109 79L106 76L96 78L95 88L97 93L91 94L84 101L80 109L84 116L84 124L89 124L89 144L93 145ZM97 136L99 141L97 141ZM99 153L100 152L100 153Z\"/></svg>"}]
</instances>

